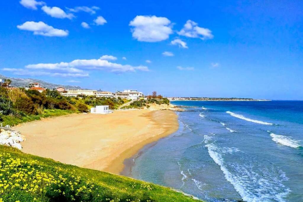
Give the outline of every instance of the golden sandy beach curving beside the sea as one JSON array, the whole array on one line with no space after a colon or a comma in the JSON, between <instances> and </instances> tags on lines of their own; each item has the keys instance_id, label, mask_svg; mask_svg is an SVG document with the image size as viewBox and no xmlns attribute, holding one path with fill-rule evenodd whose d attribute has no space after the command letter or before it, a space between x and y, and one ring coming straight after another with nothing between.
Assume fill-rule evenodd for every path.
<instances>
[{"instance_id":1,"label":"golden sandy beach curving beside the sea","mask_svg":"<svg viewBox=\"0 0 303 202\"><path fill-rule=\"evenodd\" d=\"M173 111L128 110L72 114L14 127L22 151L66 164L119 174L123 161L178 129Z\"/></svg>"}]
</instances>

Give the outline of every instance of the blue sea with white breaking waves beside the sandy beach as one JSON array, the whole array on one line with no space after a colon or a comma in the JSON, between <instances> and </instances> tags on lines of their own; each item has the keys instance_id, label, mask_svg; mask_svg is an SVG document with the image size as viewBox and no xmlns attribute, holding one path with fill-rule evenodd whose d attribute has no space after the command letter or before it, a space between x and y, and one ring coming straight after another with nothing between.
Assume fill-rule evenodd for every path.
<instances>
[{"instance_id":1,"label":"blue sea with white breaking waves beside the sandy beach","mask_svg":"<svg viewBox=\"0 0 303 202\"><path fill-rule=\"evenodd\" d=\"M303 201L303 101L175 101L180 127L131 177L206 201Z\"/></svg>"}]
</instances>

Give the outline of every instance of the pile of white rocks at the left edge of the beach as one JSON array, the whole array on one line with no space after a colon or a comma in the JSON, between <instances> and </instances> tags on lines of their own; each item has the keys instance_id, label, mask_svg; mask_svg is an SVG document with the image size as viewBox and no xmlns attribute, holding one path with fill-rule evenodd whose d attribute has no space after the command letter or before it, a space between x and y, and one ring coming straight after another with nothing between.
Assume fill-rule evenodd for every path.
<instances>
[{"instance_id":1,"label":"pile of white rocks at the left edge of the beach","mask_svg":"<svg viewBox=\"0 0 303 202\"><path fill-rule=\"evenodd\" d=\"M0 145L6 145L17 149L22 149L20 142L23 142L23 137L20 132L1 129L0 130Z\"/></svg>"}]
</instances>

